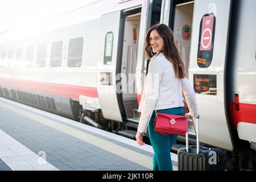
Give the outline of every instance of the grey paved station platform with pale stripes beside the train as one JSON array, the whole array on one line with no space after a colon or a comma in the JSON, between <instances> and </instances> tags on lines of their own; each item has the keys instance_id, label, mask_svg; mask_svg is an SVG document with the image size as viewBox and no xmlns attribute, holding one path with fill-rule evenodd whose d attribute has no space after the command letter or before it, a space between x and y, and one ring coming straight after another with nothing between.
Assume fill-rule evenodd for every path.
<instances>
[{"instance_id":1,"label":"grey paved station platform with pale stripes beside the train","mask_svg":"<svg viewBox=\"0 0 256 182\"><path fill-rule=\"evenodd\" d=\"M0 98L0 171L151 171L152 147ZM171 154L174 170L177 156Z\"/></svg>"}]
</instances>

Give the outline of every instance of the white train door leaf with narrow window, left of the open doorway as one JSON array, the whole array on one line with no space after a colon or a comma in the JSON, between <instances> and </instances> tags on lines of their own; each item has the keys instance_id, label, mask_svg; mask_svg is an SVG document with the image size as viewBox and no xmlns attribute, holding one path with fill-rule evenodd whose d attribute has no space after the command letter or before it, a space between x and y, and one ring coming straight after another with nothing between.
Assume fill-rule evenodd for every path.
<instances>
[{"instance_id":1,"label":"white train door leaf with narrow window, left of the open doorway","mask_svg":"<svg viewBox=\"0 0 256 182\"><path fill-rule=\"evenodd\" d=\"M97 64L98 97L106 119L122 121L117 101L116 73L121 11L101 16L100 60ZM111 23L109 23L111 22Z\"/></svg>"}]
</instances>

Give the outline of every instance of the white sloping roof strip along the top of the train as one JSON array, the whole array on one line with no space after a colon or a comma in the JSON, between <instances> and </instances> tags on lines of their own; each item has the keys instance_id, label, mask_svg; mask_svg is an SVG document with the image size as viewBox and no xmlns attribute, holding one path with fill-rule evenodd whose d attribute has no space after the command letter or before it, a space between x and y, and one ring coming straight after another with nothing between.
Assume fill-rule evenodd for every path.
<instances>
[{"instance_id":1,"label":"white sloping roof strip along the top of the train","mask_svg":"<svg viewBox=\"0 0 256 182\"><path fill-rule=\"evenodd\" d=\"M98 0L41 22L26 24L23 27L13 27L0 32L0 44L98 19L102 14L138 6L143 2L142 0Z\"/></svg>"}]
</instances>

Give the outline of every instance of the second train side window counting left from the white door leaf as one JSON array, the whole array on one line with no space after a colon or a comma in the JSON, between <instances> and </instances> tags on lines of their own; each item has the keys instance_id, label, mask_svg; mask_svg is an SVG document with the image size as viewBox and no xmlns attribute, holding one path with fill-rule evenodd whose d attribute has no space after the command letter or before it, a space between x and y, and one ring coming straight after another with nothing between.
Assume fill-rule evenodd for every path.
<instances>
[{"instance_id":1,"label":"second train side window counting left from the white door leaf","mask_svg":"<svg viewBox=\"0 0 256 182\"><path fill-rule=\"evenodd\" d=\"M51 48L51 67L60 67L62 59L63 42L53 42Z\"/></svg>"}]
</instances>

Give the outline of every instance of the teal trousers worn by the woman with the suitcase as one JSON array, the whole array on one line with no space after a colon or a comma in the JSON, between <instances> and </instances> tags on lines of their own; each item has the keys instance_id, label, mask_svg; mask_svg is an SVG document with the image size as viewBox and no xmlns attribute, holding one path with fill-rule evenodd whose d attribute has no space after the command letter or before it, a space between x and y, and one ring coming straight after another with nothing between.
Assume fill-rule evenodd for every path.
<instances>
[{"instance_id":1,"label":"teal trousers worn by the woman with the suitcase","mask_svg":"<svg viewBox=\"0 0 256 182\"><path fill-rule=\"evenodd\" d=\"M184 114L183 107L175 107L170 109L156 110L158 113L165 114ZM155 132L154 129L155 111L152 113L150 122L148 123L148 135L154 150L153 156L153 170L154 171L172 171L172 160L170 149L177 139L176 134L162 135Z\"/></svg>"}]
</instances>

